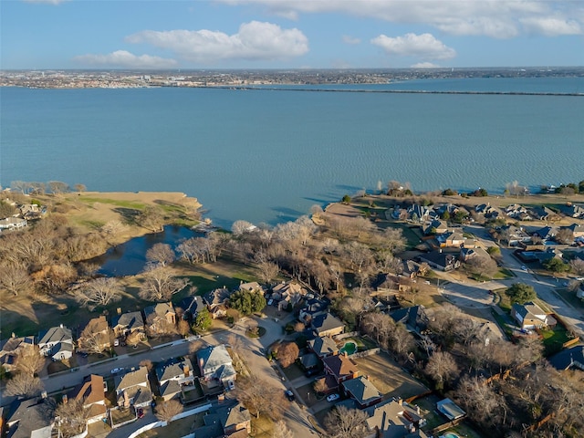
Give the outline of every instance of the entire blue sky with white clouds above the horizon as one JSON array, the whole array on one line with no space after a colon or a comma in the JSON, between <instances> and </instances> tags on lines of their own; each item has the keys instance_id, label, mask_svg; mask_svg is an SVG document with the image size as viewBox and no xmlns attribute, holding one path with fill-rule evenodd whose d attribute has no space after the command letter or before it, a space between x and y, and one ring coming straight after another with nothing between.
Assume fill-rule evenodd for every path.
<instances>
[{"instance_id":1,"label":"entire blue sky with white clouds above the horizon","mask_svg":"<svg viewBox=\"0 0 584 438\"><path fill-rule=\"evenodd\" d=\"M584 66L584 0L0 0L0 68Z\"/></svg>"}]
</instances>

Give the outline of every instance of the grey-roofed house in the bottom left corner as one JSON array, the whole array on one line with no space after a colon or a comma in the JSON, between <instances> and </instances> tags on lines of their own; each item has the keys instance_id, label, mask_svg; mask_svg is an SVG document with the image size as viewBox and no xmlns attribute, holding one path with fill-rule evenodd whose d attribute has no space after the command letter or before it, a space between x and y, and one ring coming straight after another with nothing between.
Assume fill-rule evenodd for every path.
<instances>
[{"instance_id":1,"label":"grey-roofed house in the bottom left corner","mask_svg":"<svg viewBox=\"0 0 584 438\"><path fill-rule=\"evenodd\" d=\"M55 403L44 398L14 401L7 415L8 438L50 438L55 423Z\"/></svg>"}]
</instances>

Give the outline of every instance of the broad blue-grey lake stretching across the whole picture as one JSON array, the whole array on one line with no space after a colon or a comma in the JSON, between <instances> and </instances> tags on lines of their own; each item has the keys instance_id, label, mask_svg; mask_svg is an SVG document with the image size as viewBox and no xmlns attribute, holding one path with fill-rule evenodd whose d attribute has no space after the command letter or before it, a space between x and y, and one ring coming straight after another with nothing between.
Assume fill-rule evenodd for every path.
<instances>
[{"instance_id":1,"label":"broad blue-grey lake stretching across the whole picture","mask_svg":"<svg viewBox=\"0 0 584 438\"><path fill-rule=\"evenodd\" d=\"M1 89L0 183L184 192L229 227L294 219L378 181L502 193L584 179L584 96L286 89ZM345 89L582 93L584 78Z\"/></svg>"}]
</instances>

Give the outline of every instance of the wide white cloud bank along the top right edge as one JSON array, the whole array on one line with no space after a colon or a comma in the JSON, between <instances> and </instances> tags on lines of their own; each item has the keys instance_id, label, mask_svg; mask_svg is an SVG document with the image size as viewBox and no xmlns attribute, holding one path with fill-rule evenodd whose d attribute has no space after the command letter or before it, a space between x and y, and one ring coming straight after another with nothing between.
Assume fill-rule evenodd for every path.
<instances>
[{"instance_id":1,"label":"wide white cloud bank along the top right edge","mask_svg":"<svg viewBox=\"0 0 584 438\"><path fill-rule=\"evenodd\" d=\"M265 5L268 12L297 19L299 14L340 12L390 23L433 26L452 35L510 38L523 32L582 34L584 2L565 0L215 0L228 5ZM549 22L548 17L553 16ZM578 18L576 18L578 17ZM563 23L563 25L562 25Z\"/></svg>"}]
</instances>

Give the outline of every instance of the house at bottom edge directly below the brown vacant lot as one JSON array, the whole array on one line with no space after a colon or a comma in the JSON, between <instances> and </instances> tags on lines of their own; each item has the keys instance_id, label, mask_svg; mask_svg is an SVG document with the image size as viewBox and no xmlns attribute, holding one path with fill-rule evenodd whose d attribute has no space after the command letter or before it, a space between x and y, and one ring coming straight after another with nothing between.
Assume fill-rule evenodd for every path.
<instances>
[{"instance_id":1,"label":"house at bottom edge directly below the brown vacant lot","mask_svg":"<svg viewBox=\"0 0 584 438\"><path fill-rule=\"evenodd\" d=\"M419 408L410 404L404 405L401 399L382 401L364 410L368 434L366 438L427 438L420 430L425 420Z\"/></svg>"}]
</instances>

